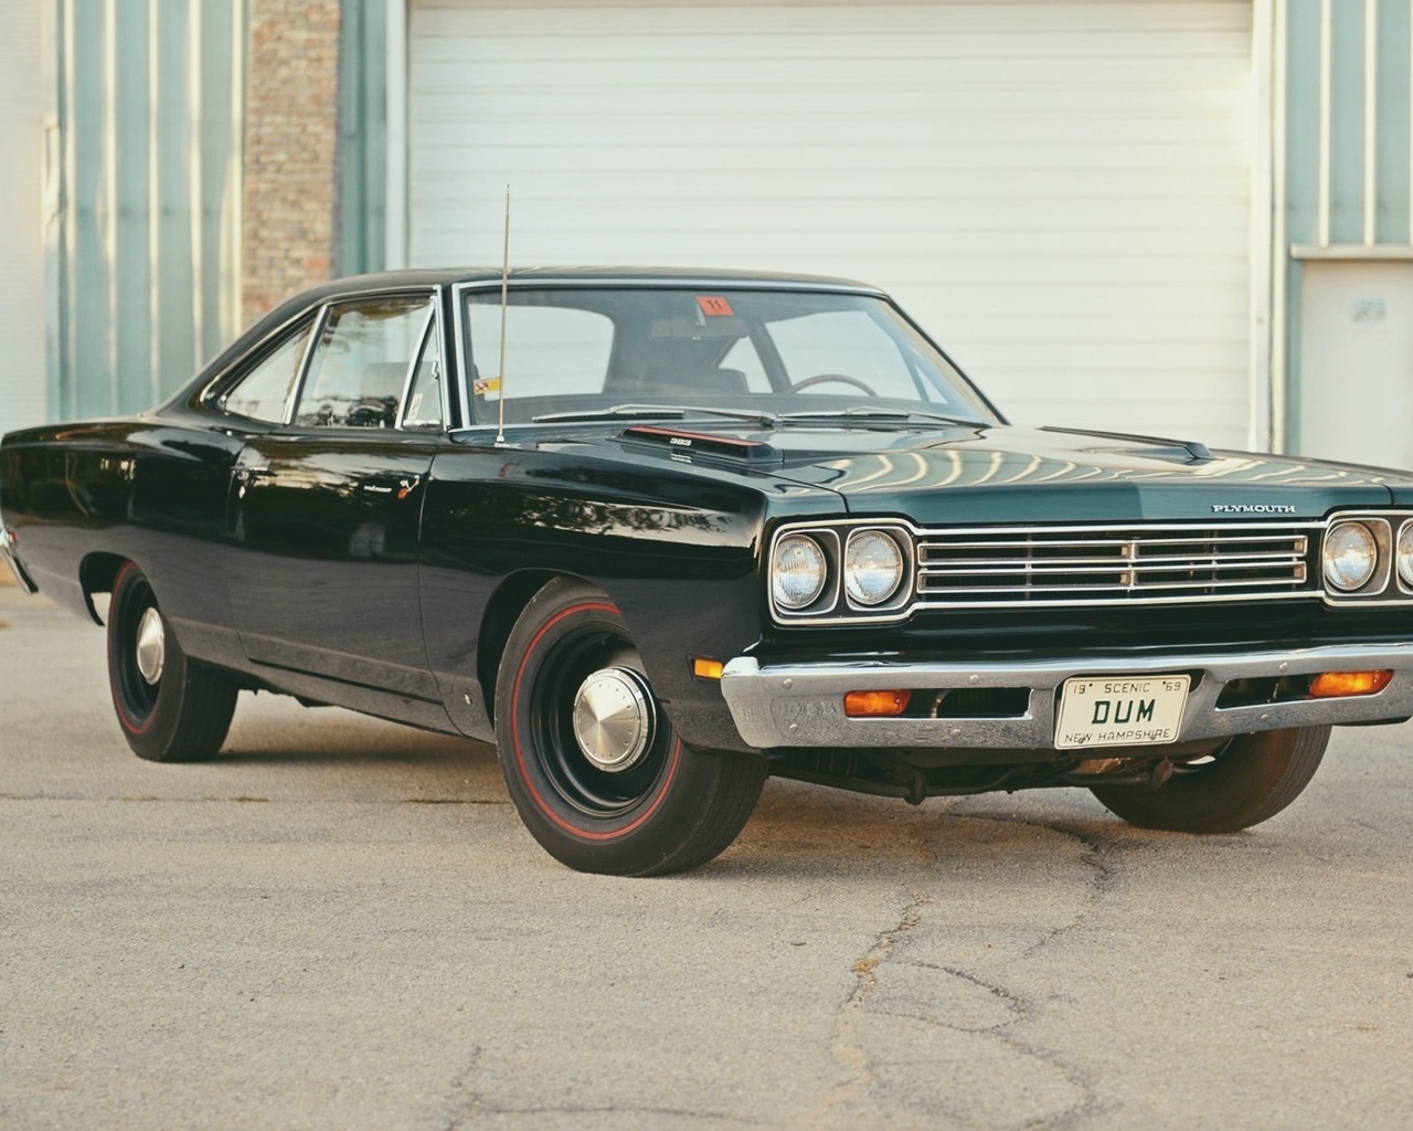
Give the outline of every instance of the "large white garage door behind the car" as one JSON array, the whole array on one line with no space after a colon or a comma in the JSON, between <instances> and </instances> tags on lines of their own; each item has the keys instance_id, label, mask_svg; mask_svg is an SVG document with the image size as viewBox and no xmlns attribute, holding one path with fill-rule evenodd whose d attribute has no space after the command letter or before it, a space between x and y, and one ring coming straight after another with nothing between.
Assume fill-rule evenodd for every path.
<instances>
[{"instance_id":1,"label":"large white garage door behind the car","mask_svg":"<svg viewBox=\"0 0 1413 1131\"><path fill-rule=\"evenodd\" d=\"M414 3L410 262L890 290L1024 423L1241 445L1251 4Z\"/></svg>"}]
</instances>

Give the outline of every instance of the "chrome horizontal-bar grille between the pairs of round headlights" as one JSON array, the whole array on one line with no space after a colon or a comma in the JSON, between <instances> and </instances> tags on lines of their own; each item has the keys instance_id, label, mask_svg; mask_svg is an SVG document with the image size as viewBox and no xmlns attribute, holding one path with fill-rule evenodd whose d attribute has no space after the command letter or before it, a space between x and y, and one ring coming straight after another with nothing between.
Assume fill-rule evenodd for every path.
<instances>
[{"instance_id":1,"label":"chrome horizontal-bar grille between the pairs of round headlights","mask_svg":"<svg viewBox=\"0 0 1413 1131\"><path fill-rule=\"evenodd\" d=\"M927 608L1252 601L1318 595L1320 523L924 530Z\"/></svg>"}]
</instances>

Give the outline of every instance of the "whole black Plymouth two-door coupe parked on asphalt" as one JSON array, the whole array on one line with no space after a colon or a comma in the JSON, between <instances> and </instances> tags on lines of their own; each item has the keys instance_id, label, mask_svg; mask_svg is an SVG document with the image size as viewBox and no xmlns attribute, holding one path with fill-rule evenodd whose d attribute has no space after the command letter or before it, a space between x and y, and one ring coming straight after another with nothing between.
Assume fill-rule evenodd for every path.
<instances>
[{"instance_id":1,"label":"whole black Plymouth two-door coupe parked on asphalt","mask_svg":"<svg viewBox=\"0 0 1413 1131\"><path fill-rule=\"evenodd\" d=\"M242 690L493 741L586 871L711 860L771 773L1234 831L1413 715L1413 476L1009 427L842 280L341 280L7 435L0 519L140 756L216 755Z\"/></svg>"}]
</instances>

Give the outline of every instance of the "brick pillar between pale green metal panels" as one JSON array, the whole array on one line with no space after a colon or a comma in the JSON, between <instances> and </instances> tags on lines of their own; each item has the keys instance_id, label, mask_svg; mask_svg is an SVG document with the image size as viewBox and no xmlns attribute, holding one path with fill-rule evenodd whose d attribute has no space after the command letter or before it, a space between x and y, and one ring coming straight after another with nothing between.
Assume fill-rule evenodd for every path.
<instances>
[{"instance_id":1,"label":"brick pillar between pale green metal panels","mask_svg":"<svg viewBox=\"0 0 1413 1131\"><path fill-rule=\"evenodd\" d=\"M250 0L244 321L333 269L338 0Z\"/></svg>"}]
</instances>

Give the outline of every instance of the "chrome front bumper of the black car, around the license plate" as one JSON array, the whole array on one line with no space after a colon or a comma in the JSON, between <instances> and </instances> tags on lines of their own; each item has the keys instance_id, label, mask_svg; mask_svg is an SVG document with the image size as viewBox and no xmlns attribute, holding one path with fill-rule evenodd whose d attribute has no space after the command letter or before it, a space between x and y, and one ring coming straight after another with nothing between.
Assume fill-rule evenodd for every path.
<instances>
[{"instance_id":1,"label":"chrome front bumper of the black car, around the license plate","mask_svg":"<svg viewBox=\"0 0 1413 1131\"><path fill-rule=\"evenodd\" d=\"M1239 679L1388 669L1393 680L1375 696L1217 707ZM801 663L731 660L721 691L740 737L752 746L938 746L1054 749L1057 688L1075 676L1201 673L1183 710L1178 741L1221 738L1284 727L1378 722L1413 715L1413 643L1340 645L1246 653L1084 656L1046 662ZM1007 718L849 718L844 696L870 690L1029 688L1024 714Z\"/></svg>"}]
</instances>

